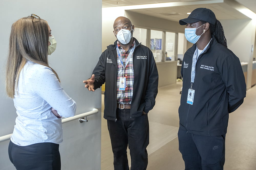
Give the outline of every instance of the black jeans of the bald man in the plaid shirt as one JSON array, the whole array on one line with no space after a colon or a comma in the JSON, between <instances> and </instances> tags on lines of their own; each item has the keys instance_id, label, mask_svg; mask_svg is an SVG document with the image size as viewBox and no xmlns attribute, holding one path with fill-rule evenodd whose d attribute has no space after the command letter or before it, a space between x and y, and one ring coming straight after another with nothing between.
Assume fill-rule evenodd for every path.
<instances>
[{"instance_id":1,"label":"black jeans of the bald man in the plaid shirt","mask_svg":"<svg viewBox=\"0 0 256 170\"><path fill-rule=\"evenodd\" d=\"M142 113L141 113L142 114ZM130 109L117 109L117 121L108 120L108 130L114 154L114 169L129 169L127 145L131 155L131 170L147 168L149 125L147 115L130 118Z\"/></svg>"}]
</instances>

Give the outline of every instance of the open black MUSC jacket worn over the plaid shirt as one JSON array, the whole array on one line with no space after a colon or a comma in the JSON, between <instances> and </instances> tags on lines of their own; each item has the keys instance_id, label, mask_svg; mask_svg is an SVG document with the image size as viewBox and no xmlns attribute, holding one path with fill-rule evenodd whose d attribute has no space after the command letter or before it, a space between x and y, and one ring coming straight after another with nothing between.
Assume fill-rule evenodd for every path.
<instances>
[{"instance_id":1,"label":"open black MUSC jacket worn over the plaid shirt","mask_svg":"<svg viewBox=\"0 0 256 170\"><path fill-rule=\"evenodd\" d=\"M134 82L131 118L141 116L143 111L148 113L155 105L158 92L158 72L153 53L135 38L134 40L136 46L132 58ZM104 118L108 120L116 120L118 74L116 44L117 40L101 54L92 73L95 75L94 89L100 88L105 82Z\"/></svg>"}]
</instances>

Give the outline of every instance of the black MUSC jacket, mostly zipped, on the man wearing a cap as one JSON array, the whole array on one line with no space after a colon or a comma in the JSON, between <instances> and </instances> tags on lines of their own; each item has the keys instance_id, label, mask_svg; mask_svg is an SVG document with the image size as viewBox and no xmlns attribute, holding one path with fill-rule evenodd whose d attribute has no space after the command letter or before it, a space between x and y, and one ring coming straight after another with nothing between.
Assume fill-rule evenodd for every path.
<instances>
[{"instance_id":1,"label":"black MUSC jacket, mostly zipped, on the man wearing a cap","mask_svg":"<svg viewBox=\"0 0 256 170\"><path fill-rule=\"evenodd\" d=\"M246 83L239 58L212 37L196 62L193 105L187 104L191 88L192 58L196 44L184 54L181 75L183 88L179 106L180 128L190 133L217 136L227 133L229 113L246 96Z\"/></svg>"}]
</instances>

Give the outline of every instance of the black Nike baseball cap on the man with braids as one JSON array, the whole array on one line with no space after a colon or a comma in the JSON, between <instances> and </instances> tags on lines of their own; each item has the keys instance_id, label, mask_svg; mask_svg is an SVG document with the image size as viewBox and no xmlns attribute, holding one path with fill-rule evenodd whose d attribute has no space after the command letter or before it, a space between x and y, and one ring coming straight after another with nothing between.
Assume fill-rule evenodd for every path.
<instances>
[{"instance_id":1,"label":"black Nike baseball cap on the man with braids","mask_svg":"<svg viewBox=\"0 0 256 170\"><path fill-rule=\"evenodd\" d=\"M212 10L207 8L196 8L187 18L179 20L180 25L186 25L187 23L194 23L198 21L206 21L215 25L216 17Z\"/></svg>"}]
</instances>

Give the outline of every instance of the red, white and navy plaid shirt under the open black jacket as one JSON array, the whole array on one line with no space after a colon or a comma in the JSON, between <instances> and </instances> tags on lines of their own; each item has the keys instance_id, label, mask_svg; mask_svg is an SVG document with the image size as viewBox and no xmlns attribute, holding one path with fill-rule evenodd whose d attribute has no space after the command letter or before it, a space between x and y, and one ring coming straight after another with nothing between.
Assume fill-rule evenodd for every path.
<instances>
[{"instance_id":1,"label":"red, white and navy plaid shirt under the open black jacket","mask_svg":"<svg viewBox=\"0 0 256 170\"><path fill-rule=\"evenodd\" d=\"M120 51L121 58L123 59L123 64L125 65L126 59L128 55L130 54L131 49L135 45L135 41L133 41L133 44L129 47L129 50L125 51L123 47L119 44L117 41L117 46ZM119 60L119 57L117 55L117 63L118 63L118 75L117 75L117 103L124 103L124 104L131 104L132 100L132 94L133 94L133 80L134 80L134 72L133 72L133 54L130 58L129 63L125 67L125 70ZM124 72L123 72L124 70ZM119 83L120 83L120 77L126 78L126 87L125 90L119 90Z\"/></svg>"}]
</instances>

